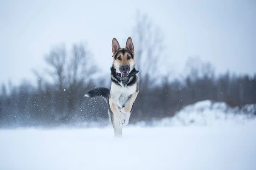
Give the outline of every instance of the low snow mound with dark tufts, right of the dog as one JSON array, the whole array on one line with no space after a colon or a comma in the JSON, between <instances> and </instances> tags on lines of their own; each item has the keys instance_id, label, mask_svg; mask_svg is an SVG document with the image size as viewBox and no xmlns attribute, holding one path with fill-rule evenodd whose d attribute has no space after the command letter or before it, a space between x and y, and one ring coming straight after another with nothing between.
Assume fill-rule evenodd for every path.
<instances>
[{"instance_id":1,"label":"low snow mound with dark tufts, right of the dog","mask_svg":"<svg viewBox=\"0 0 256 170\"><path fill-rule=\"evenodd\" d=\"M187 105L173 117L152 121L153 126L243 125L256 119L256 104L232 108L225 102L204 100ZM137 125L145 126L146 122Z\"/></svg>"}]
</instances>

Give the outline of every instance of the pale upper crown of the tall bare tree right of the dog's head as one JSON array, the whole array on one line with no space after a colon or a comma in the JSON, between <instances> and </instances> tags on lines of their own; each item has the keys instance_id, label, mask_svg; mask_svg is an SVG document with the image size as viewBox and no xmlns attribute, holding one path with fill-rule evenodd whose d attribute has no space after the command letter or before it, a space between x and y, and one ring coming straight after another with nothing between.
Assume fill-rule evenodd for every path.
<instances>
[{"instance_id":1,"label":"pale upper crown of the tall bare tree right of the dog's head","mask_svg":"<svg viewBox=\"0 0 256 170\"><path fill-rule=\"evenodd\" d=\"M136 16L136 24L133 30L133 41L136 46L136 68L140 71L139 83L148 85L150 80L159 77L160 58L163 51L163 36L159 29L153 25L146 14L139 11Z\"/></svg>"}]
</instances>

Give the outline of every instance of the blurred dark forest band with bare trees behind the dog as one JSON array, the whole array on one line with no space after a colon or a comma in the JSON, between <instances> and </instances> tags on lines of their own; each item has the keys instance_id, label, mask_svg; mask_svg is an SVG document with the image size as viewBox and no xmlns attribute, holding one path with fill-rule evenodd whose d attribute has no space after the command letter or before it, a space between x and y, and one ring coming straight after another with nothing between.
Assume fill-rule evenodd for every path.
<instances>
[{"instance_id":1,"label":"blurred dark forest band with bare trees behind the dog","mask_svg":"<svg viewBox=\"0 0 256 170\"><path fill-rule=\"evenodd\" d=\"M133 33L140 93L130 123L173 116L183 106L205 99L230 106L256 103L256 74L237 76L227 71L216 75L211 63L197 58L189 58L185 64L188 74L179 79L159 77L158 62L164 57L159 29L146 14L138 14ZM105 79L94 77L99 68L91 54L84 44L74 44L71 51L65 46L55 46L45 56L48 65L45 71L50 79L35 71L37 85L26 81L19 86L2 84L0 127L108 124L106 102L84 97L93 88L111 85L110 72Z\"/></svg>"}]
</instances>

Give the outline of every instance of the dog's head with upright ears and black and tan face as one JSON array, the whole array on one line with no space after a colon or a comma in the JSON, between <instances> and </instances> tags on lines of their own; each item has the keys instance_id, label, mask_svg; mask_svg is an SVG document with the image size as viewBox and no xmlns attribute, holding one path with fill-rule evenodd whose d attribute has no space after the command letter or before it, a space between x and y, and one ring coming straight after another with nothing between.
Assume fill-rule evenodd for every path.
<instances>
[{"instance_id":1,"label":"dog's head with upright ears and black and tan face","mask_svg":"<svg viewBox=\"0 0 256 170\"><path fill-rule=\"evenodd\" d=\"M135 66L134 45L131 37L128 37L125 48L120 48L116 38L113 38L112 52L113 66L116 69L116 72L121 73L124 77L128 76Z\"/></svg>"}]
</instances>

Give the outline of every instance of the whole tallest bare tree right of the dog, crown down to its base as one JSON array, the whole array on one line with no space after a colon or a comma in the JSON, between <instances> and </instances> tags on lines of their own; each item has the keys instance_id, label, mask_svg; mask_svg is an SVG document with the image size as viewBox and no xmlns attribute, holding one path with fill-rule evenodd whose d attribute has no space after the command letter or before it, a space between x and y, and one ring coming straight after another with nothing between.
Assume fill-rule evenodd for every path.
<instances>
[{"instance_id":1,"label":"whole tallest bare tree right of the dog, crown down to its base","mask_svg":"<svg viewBox=\"0 0 256 170\"><path fill-rule=\"evenodd\" d=\"M147 14L141 14L140 11L137 11L135 26L132 31L133 42L136 47L134 48L135 67L139 71L140 86L140 94L137 97L140 105L135 105L135 111L137 112L137 119L141 119L143 116L154 113L148 107L148 100L154 101L155 96L150 93L148 88L154 88L152 85L161 79L159 67L161 67L160 62L163 52L163 36ZM154 104L153 108L156 108L155 111L159 110L157 104L152 103Z\"/></svg>"}]
</instances>

